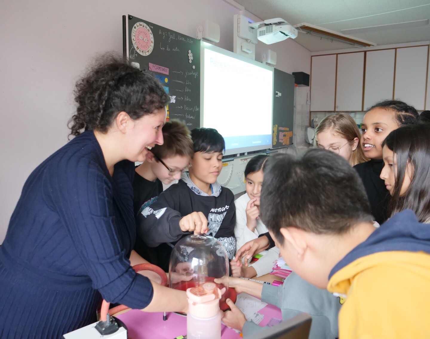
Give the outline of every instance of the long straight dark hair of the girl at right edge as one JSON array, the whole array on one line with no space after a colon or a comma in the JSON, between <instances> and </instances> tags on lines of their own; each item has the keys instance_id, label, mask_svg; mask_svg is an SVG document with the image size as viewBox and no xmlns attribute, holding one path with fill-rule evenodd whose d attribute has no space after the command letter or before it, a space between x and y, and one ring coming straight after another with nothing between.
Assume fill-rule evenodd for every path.
<instances>
[{"instance_id":1,"label":"long straight dark hair of the girl at right edge","mask_svg":"<svg viewBox=\"0 0 430 339\"><path fill-rule=\"evenodd\" d=\"M392 131L382 146L396 154L397 172L390 215L412 209L418 221L430 222L430 124L413 124ZM400 196L408 163L412 165L412 180Z\"/></svg>"}]
</instances>

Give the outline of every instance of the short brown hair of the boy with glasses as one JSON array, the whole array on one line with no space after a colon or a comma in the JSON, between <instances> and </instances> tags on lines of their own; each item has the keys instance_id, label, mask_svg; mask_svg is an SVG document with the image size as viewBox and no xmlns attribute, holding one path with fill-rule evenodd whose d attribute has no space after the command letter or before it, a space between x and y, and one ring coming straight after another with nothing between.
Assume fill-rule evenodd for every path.
<instances>
[{"instance_id":1,"label":"short brown hair of the boy with glasses","mask_svg":"<svg viewBox=\"0 0 430 339\"><path fill-rule=\"evenodd\" d=\"M158 159L166 159L172 156L194 155L193 140L190 130L182 121L170 120L163 126L163 145L155 145L151 152Z\"/></svg>"}]
</instances>

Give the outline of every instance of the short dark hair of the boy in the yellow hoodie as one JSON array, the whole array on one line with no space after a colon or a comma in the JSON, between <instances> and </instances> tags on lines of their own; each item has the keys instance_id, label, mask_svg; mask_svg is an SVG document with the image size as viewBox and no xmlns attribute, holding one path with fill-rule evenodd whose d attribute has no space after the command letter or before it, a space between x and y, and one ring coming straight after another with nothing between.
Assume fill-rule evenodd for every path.
<instances>
[{"instance_id":1,"label":"short dark hair of the boy in the yellow hoodie","mask_svg":"<svg viewBox=\"0 0 430 339\"><path fill-rule=\"evenodd\" d=\"M302 157L270 156L264 165L261 220L283 244L282 227L340 235L372 223L363 183L342 157L311 149Z\"/></svg>"}]
</instances>

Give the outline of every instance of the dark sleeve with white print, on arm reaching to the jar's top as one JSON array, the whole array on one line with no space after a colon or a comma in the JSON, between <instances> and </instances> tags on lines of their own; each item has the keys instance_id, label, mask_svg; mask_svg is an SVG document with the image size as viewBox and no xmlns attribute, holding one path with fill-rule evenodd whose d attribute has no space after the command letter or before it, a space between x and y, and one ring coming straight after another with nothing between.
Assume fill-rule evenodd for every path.
<instances>
[{"instance_id":1,"label":"dark sleeve with white print, on arm reaching to the jar's top","mask_svg":"<svg viewBox=\"0 0 430 339\"><path fill-rule=\"evenodd\" d=\"M181 213L175 210L174 197L165 191L156 202L139 213L136 218L137 233L150 247L171 243L186 234L179 227L181 218Z\"/></svg>"}]
</instances>

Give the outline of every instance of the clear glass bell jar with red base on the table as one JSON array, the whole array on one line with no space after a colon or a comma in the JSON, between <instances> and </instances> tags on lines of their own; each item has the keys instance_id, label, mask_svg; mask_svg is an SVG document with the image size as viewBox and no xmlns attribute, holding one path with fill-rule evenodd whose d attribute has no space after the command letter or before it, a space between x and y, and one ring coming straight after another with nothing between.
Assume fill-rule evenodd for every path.
<instances>
[{"instance_id":1,"label":"clear glass bell jar with red base on the table","mask_svg":"<svg viewBox=\"0 0 430 339\"><path fill-rule=\"evenodd\" d=\"M229 307L227 298L236 302L236 292L228 288L229 262L224 246L213 236L191 234L180 239L172 250L169 264L169 286L173 289L186 291L190 287L214 282L223 291L220 308L225 311Z\"/></svg>"}]
</instances>

